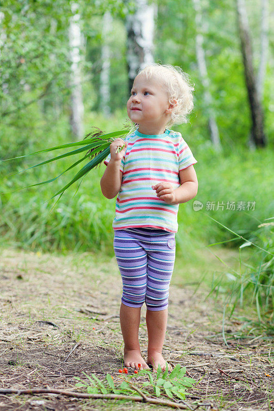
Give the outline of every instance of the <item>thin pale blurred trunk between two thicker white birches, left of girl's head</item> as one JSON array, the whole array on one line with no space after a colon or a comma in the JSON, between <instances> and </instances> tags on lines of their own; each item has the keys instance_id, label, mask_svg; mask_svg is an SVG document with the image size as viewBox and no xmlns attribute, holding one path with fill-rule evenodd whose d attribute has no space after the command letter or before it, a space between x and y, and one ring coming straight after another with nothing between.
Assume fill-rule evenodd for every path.
<instances>
[{"instance_id":1,"label":"thin pale blurred trunk between two thicker white birches, left of girl's head","mask_svg":"<svg viewBox=\"0 0 274 411\"><path fill-rule=\"evenodd\" d=\"M112 16L109 11L106 11L103 16L102 27L102 70L100 74L100 108L105 116L109 116L111 109L109 107L109 96L111 95L110 86L110 67L111 67L111 51L109 49L109 32L112 26Z\"/></svg>"}]
</instances>

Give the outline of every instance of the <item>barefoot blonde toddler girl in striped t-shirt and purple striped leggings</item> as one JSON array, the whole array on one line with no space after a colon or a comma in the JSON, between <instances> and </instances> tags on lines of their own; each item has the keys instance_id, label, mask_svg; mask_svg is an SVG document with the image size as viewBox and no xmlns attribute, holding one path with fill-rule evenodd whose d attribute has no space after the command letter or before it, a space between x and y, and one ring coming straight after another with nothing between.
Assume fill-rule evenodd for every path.
<instances>
[{"instance_id":1,"label":"barefoot blonde toddler girl in striped t-shirt and purple striped leggings","mask_svg":"<svg viewBox=\"0 0 274 411\"><path fill-rule=\"evenodd\" d=\"M175 259L179 203L197 194L197 161L181 134L166 128L187 122L194 88L179 67L152 64L139 70L127 115L138 128L117 138L105 159L101 190L116 200L114 252L122 276L120 324L124 365L138 369L162 357L168 319L169 284ZM124 148L118 152L117 147ZM148 359L142 358L138 331L141 306L147 306ZM172 370L169 364L169 370Z\"/></svg>"}]
</instances>

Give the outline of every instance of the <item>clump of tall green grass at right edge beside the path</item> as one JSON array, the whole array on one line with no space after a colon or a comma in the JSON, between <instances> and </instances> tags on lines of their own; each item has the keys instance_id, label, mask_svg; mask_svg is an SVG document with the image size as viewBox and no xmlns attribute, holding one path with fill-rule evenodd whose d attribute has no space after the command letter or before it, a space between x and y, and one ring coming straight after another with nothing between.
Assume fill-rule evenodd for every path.
<instances>
[{"instance_id":1,"label":"clump of tall green grass at right edge beside the path","mask_svg":"<svg viewBox=\"0 0 274 411\"><path fill-rule=\"evenodd\" d=\"M228 270L221 274L221 278L220 275L213 278L211 293L218 293L222 288L224 307L229 306L229 318L235 309L245 308L244 314L238 314L238 318L243 321L242 331L248 328L248 334L274 334L273 234L274 217L270 217L252 233L250 241L242 240L239 271ZM252 258L246 261L242 258L245 247L253 248Z\"/></svg>"}]
</instances>

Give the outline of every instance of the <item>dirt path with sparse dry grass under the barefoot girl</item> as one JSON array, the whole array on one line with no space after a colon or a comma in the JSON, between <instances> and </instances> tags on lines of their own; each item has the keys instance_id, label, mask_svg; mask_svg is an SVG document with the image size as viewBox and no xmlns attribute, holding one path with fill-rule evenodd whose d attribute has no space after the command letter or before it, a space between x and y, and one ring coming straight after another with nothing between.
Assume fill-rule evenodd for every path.
<instances>
[{"instance_id":1,"label":"dirt path with sparse dry grass under the barefoot girl","mask_svg":"<svg viewBox=\"0 0 274 411\"><path fill-rule=\"evenodd\" d=\"M123 353L121 278L115 257L99 258L92 253L56 256L0 249L0 388L49 385L85 392L75 388L74 376L84 379L82 371L94 372L99 379L109 372L118 381ZM240 325L231 322L225 325L227 347L222 337L222 307L213 307L209 298L205 301L202 287L193 293L193 286L182 289L175 284L170 286L163 356L173 365L185 365L189 375L200 381L188 390L187 404L194 409L197 402L203 403L199 409L206 411L272 409L270 343L233 338ZM145 305L139 336L145 358ZM80 344L64 361L76 343ZM172 409L58 395L0 395L1 411L140 407Z\"/></svg>"}]
</instances>

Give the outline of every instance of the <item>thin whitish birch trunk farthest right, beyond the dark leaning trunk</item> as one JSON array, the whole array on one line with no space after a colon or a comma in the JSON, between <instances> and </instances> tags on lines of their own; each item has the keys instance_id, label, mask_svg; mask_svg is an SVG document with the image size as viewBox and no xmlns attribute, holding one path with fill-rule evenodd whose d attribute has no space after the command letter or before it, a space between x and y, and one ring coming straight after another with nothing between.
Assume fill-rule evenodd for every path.
<instances>
[{"instance_id":1,"label":"thin whitish birch trunk farthest right, beyond the dark leaning trunk","mask_svg":"<svg viewBox=\"0 0 274 411\"><path fill-rule=\"evenodd\" d=\"M261 44L260 44L260 65L257 76L257 91L259 100L262 102L264 77L267 63L268 52L268 0L261 0L262 14L261 14Z\"/></svg>"}]
</instances>

